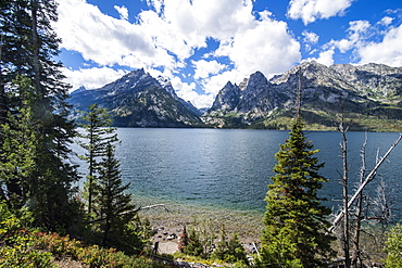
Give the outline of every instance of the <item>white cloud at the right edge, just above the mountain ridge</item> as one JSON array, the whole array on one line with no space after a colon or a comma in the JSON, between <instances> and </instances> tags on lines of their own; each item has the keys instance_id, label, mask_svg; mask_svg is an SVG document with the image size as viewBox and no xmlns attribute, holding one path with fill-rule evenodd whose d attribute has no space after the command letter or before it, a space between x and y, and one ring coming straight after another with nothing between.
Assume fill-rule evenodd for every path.
<instances>
[{"instance_id":1,"label":"white cloud at the right edge, just above the mountain ridge","mask_svg":"<svg viewBox=\"0 0 402 268\"><path fill-rule=\"evenodd\" d=\"M402 66L402 25L391 27L380 42L368 42L357 51L360 63L384 63L390 66Z\"/></svg>"}]
</instances>

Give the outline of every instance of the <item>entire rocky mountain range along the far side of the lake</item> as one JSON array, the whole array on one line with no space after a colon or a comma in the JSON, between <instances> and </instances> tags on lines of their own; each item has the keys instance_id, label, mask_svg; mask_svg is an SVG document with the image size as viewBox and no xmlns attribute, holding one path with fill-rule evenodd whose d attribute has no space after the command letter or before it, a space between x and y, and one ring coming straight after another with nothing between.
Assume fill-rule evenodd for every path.
<instances>
[{"instance_id":1,"label":"entire rocky mountain range along the far side of the lake","mask_svg":"<svg viewBox=\"0 0 402 268\"><path fill-rule=\"evenodd\" d=\"M267 79L261 72L228 81L202 113L177 97L172 84L137 69L100 89L71 94L73 117L98 102L113 125L288 129L302 91L306 129L336 129L341 114L354 130L401 131L402 67L384 64L326 66L305 62Z\"/></svg>"}]
</instances>

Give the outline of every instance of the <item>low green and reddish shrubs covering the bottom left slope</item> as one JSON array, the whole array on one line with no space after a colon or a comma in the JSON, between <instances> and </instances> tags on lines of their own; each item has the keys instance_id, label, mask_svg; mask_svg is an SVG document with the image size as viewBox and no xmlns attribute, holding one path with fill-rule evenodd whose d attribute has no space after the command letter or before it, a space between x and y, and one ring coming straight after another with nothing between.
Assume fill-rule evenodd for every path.
<instances>
[{"instance_id":1,"label":"low green and reddish shrubs covering the bottom left slope","mask_svg":"<svg viewBox=\"0 0 402 268\"><path fill-rule=\"evenodd\" d=\"M145 257L133 257L114 248L84 246L80 241L58 233L32 230L32 213L12 213L0 203L0 267L52 268L53 258L74 259L89 267L164 267Z\"/></svg>"}]
</instances>

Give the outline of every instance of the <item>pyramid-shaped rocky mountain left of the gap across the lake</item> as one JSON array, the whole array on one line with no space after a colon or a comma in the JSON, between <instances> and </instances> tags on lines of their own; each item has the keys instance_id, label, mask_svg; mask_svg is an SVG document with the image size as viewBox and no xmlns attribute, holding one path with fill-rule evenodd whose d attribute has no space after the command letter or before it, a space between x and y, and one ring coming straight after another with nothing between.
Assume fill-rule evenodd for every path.
<instances>
[{"instance_id":1,"label":"pyramid-shaped rocky mountain left of the gap across the lake","mask_svg":"<svg viewBox=\"0 0 402 268\"><path fill-rule=\"evenodd\" d=\"M200 112L177 97L172 84L153 78L143 69L128 73L114 82L95 90L72 92L73 118L92 103L109 109L114 126L121 127L192 127L200 126Z\"/></svg>"}]
</instances>

